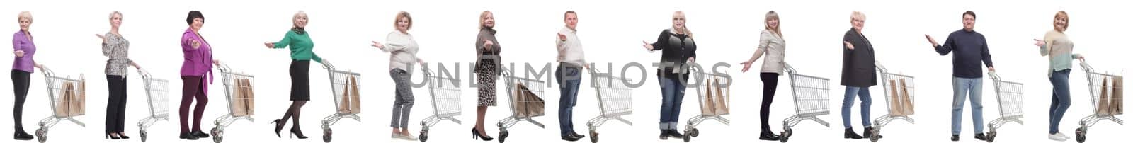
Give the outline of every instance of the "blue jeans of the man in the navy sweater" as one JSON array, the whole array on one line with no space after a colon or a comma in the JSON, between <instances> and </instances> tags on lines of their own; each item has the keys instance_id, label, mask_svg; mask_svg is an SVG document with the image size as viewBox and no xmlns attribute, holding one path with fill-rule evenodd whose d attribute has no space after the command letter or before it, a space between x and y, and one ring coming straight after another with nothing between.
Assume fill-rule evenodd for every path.
<instances>
[{"instance_id":1,"label":"blue jeans of the man in the navy sweater","mask_svg":"<svg viewBox=\"0 0 1133 143\"><path fill-rule=\"evenodd\" d=\"M983 78L952 77L952 134L960 134L960 118L964 115L964 96L972 100L972 127L983 133Z\"/></svg>"}]
</instances>

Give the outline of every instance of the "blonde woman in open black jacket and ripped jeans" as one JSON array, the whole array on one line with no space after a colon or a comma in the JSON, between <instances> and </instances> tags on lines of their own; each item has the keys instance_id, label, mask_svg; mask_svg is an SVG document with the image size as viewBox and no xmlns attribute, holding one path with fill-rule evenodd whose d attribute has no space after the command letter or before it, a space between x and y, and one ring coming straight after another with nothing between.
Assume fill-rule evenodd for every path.
<instances>
[{"instance_id":1,"label":"blonde woman in open black jacket and ripped jeans","mask_svg":"<svg viewBox=\"0 0 1133 143\"><path fill-rule=\"evenodd\" d=\"M661 83L661 140L681 137L676 129L676 120L681 116L681 101L684 99L684 84L689 81L688 62L695 62L697 44L692 33L684 25L684 12L673 12L673 28L661 32L657 42L642 41L642 47L649 51L661 50L661 67L657 69L657 83Z\"/></svg>"}]
</instances>

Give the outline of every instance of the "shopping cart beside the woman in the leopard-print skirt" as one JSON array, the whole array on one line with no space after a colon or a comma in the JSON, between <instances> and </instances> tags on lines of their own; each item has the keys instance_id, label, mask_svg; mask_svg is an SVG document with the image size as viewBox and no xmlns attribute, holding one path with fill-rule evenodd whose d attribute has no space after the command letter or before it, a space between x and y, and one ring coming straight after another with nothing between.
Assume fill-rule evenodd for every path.
<instances>
[{"instance_id":1,"label":"shopping cart beside the woman in the leopard-print skirt","mask_svg":"<svg viewBox=\"0 0 1133 143\"><path fill-rule=\"evenodd\" d=\"M509 107L511 107L511 117L501 119L500 123L496 124L496 126L500 127L500 138L499 138L500 143L503 143L504 138L508 138L508 135L509 135L508 134L508 128L511 127L511 126L514 126L516 124L519 124L520 121L528 121L528 123L535 124L535 126L539 126L539 128L545 128L543 126L543 124L540 124L539 121L535 121L535 119L531 119L534 117L542 117L545 113L534 113L534 115L531 115L531 113L523 113L523 115L520 115L521 112L517 111L517 109L520 108L520 107L518 107L520 104L516 104L516 103L521 103L522 106L526 106L528 103L543 102L543 101L540 101L540 99L544 99L544 96L543 96L543 90L546 87L546 83L544 81L539 81L539 79L533 79L533 78L526 78L526 77L516 77L514 75L509 74L508 72L510 72L510 70L508 68L504 68L504 67L500 67L500 69L501 69L500 74L503 75L503 78L501 78L501 79L505 81L504 83L508 84L508 85L505 85L506 89L508 89L508 91L506 91L508 92L508 101L509 101L508 104L509 104ZM527 87L527 90L526 91L518 91L520 89L518 86L516 86L516 84L521 84L523 87ZM516 92L530 92L530 93L535 94L538 99L529 99L529 98L523 98L523 96L520 96L519 99L517 99ZM539 111L539 112L543 112L543 111Z\"/></svg>"}]
</instances>

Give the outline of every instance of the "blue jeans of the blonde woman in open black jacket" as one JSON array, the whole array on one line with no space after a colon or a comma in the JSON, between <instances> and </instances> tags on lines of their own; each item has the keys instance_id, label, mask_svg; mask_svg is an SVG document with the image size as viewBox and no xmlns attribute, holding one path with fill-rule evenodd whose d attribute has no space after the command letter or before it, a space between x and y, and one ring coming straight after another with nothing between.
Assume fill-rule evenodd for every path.
<instances>
[{"instance_id":1,"label":"blue jeans of the blonde woman in open black jacket","mask_svg":"<svg viewBox=\"0 0 1133 143\"><path fill-rule=\"evenodd\" d=\"M680 77L657 76L661 83L661 129L678 129L676 120L681 116L681 101L684 100L684 84Z\"/></svg>"}]
</instances>

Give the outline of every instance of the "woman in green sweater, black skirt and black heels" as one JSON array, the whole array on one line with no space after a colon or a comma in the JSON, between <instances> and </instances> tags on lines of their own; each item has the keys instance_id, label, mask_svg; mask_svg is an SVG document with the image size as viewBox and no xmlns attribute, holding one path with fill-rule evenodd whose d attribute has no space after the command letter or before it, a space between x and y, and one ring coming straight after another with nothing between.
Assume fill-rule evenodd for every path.
<instances>
[{"instance_id":1,"label":"woman in green sweater, black skirt and black heels","mask_svg":"<svg viewBox=\"0 0 1133 143\"><path fill-rule=\"evenodd\" d=\"M275 124L275 136L280 137L280 131L283 131L283 125L287 125L288 118L291 118L295 124L291 125L291 134L295 134L299 138L307 138L299 129L299 111L303 109L303 104L306 104L310 100L310 79L307 73L309 73L310 60L318 61L320 64L326 60L318 58L315 52L310 51L315 48L315 43L310 41L310 35L305 30L307 26L307 14L299 11L295 14L291 22L293 23L291 31L287 32L283 40L274 43L264 43L269 49L282 49L287 47L291 49L291 106L283 113L283 118L272 120L272 124Z\"/></svg>"}]
</instances>

